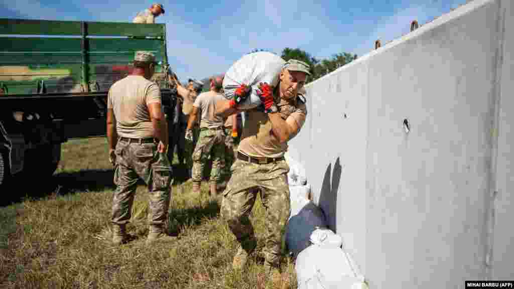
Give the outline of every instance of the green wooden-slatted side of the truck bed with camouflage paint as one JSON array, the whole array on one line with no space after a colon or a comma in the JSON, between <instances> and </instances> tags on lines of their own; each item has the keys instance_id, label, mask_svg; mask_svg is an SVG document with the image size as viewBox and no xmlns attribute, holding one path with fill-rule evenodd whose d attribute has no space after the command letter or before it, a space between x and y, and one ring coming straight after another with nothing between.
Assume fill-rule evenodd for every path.
<instances>
[{"instance_id":1,"label":"green wooden-slatted side of the truck bed with camouflage paint","mask_svg":"<svg viewBox=\"0 0 514 289\"><path fill-rule=\"evenodd\" d=\"M0 34L46 34L0 37L0 85L7 86L9 95L37 93L41 80L47 93L107 91L131 73L138 50L151 51L158 62L167 63L162 24L0 19ZM56 38L61 35L69 37ZM157 65L155 80L163 79L163 67Z\"/></svg>"}]
</instances>

